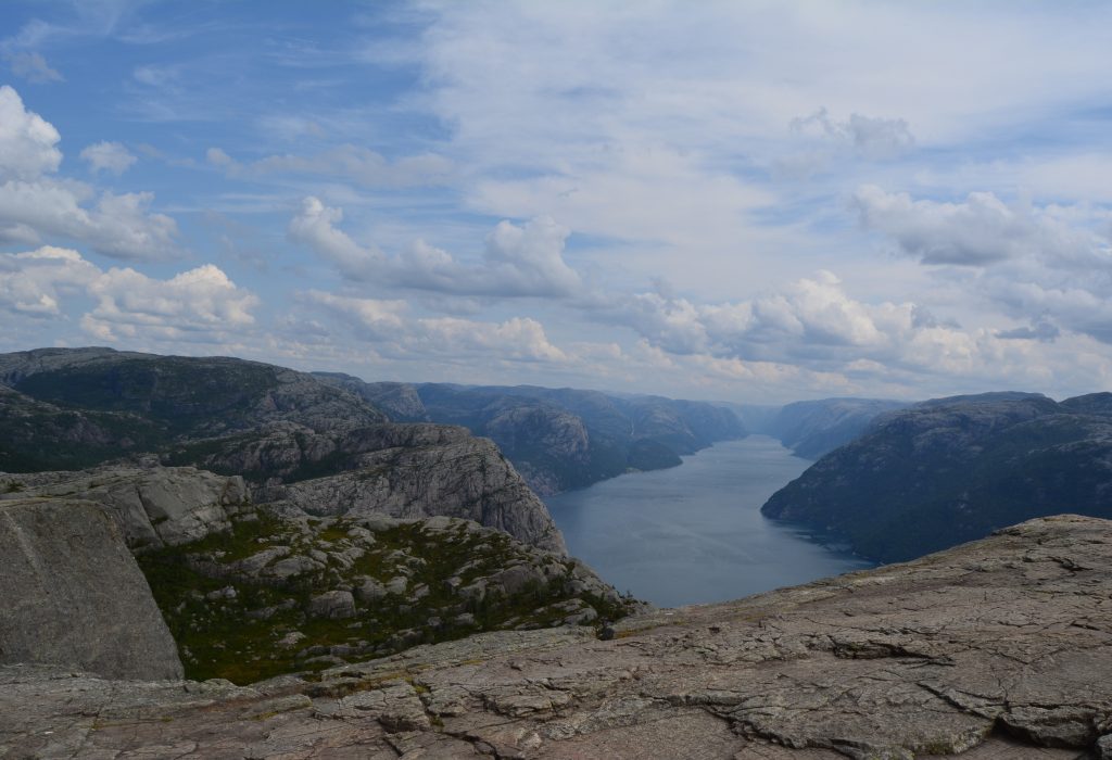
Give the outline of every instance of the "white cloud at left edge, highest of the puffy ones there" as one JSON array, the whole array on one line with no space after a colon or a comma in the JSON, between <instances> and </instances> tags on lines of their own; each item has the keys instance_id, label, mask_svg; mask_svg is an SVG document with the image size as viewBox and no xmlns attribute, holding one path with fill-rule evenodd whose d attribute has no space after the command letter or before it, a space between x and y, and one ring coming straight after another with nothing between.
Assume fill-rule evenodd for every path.
<instances>
[{"instance_id":1,"label":"white cloud at left edge, highest of the puffy ones there","mask_svg":"<svg viewBox=\"0 0 1112 760\"><path fill-rule=\"evenodd\" d=\"M178 254L177 223L150 211L152 193L98 193L89 184L53 176L62 159L59 139L58 130L28 111L13 89L0 87L0 241L34 244L44 237L66 238L133 261ZM96 166L105 156L108 169L127 161L115 148L86 158Z\"/></svg>"}]
</instances>

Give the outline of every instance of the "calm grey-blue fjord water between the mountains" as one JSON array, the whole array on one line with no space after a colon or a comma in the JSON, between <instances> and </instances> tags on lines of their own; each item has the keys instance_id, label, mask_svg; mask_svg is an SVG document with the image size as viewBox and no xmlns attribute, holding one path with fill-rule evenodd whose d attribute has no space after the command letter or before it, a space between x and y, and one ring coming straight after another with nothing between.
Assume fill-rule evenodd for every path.
<instances>
[{"instance_id":1,"label":"calm grey-blue fjord water between the mountains","mask_svg":"<svg viewBox=\"0 0 1112 760\"><path fill-rule=\"evenodd\" d=\"M872 567L761 516L808 464L749 436L545 501L570 552L619 591L661 607L724 601Z\"/></svg>"}]
</instances>

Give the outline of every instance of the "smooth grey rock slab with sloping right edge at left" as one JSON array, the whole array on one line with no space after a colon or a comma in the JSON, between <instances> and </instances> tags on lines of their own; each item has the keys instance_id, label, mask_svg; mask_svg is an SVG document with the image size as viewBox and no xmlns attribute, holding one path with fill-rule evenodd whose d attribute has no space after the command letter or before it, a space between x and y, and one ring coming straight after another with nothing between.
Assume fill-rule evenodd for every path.
<instances>
[{"instance_id":1,"label":"smooth grey rock slab with sloping right edge at left","mask_svg":"<svg viewBox=\"0 0 1112 760\"><path fill-rule=\"evenodd\" d=\"M150 588L98 504L0 501L0 663L59 664L118 679L181 678Z\"/></svg>"}]
</instances>

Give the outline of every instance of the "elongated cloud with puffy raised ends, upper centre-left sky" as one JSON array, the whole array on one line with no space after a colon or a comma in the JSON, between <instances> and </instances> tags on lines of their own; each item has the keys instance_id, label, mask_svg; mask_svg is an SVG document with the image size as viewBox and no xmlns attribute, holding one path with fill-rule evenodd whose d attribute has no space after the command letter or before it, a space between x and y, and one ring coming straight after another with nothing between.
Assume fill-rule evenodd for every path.
<instances>
[{"instance_id":1,"label":"elongated cloud with puffy raised ends, upper centre-left sky","mask_svg":"<svg viewBox=\"0 0 1112 760\"><path fill-rule=\"evenodd\" d=\"M564 261L570 230L540 217L518 227L499 222L486 238L480 261L464 262L449 252L417 240L395 257L363 247L336 226L341 209L306 198L290 220L289 238L332 262L347 278L455 296L570 296L582 288L578 273Z\"/></svg>"}]
</instances>

